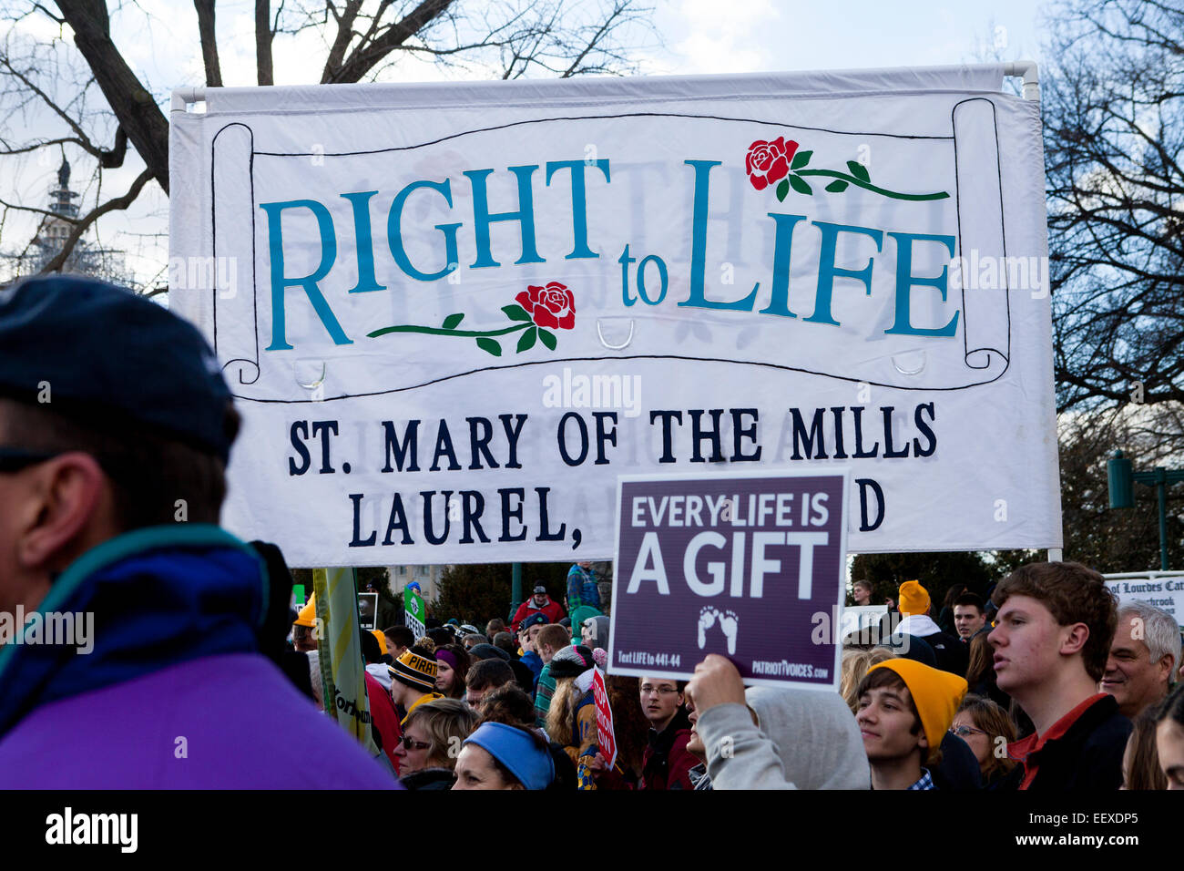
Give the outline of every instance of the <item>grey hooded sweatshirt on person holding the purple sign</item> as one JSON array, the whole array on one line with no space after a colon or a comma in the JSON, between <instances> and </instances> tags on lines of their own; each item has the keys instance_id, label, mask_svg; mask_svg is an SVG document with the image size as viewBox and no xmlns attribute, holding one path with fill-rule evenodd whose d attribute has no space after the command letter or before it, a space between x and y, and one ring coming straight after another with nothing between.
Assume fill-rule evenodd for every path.
<instances>
[{"instance_id":1,"label":"grey hooded sweatshirt on person holding the purple sign","mask_svg":"<svg viewBox=\"0 0 1184 871\"><path fill-rule=\"evenodd\" d=\"M695 730L707 748L713 789L870 789L860 728L843 697L818 690L749 687L757 712L716 705Z\"/></svg>"}]
</instances>

